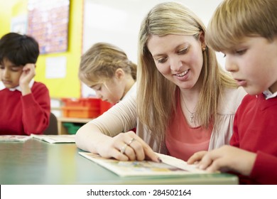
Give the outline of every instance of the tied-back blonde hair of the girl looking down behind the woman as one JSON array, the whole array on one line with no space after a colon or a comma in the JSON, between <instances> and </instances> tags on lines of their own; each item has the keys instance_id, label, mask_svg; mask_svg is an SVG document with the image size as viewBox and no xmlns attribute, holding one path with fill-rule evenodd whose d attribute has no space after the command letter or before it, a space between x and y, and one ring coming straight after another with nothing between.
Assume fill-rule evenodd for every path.
<instances>
[{"instance_id":1,"label":"tied-back blonde hair of the girl looking down behind the woman","mask_svg":"<svg viewBox=\"0 0 277 199\"><path fill-rule=\"evenodd\" d=\"M114 77L118 68L136 80L136 64L128 59L123 50L109 43L95 43L81 57L79 78L97 85Z\"/></svg>"}]
</instances>

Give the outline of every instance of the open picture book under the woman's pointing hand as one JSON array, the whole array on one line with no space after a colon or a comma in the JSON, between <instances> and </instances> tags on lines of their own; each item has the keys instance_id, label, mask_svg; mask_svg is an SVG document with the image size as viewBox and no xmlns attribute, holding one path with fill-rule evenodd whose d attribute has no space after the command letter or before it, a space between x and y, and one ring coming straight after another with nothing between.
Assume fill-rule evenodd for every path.
<instances>
[{"instance_id":1,"label":"open picture book under the woman's pointing hand","mask_svg":"<svg viewBox=\"0 0 277 199\"><path fill-rule=\"evenodd\" d=\"M109 169L118 176L180 176L207 171L189 165L185 161L163 154L157 154L163 163L153 161L118 161L112 158L102 158L98 154L79 152L81 156Z\"/></svg>"}]
</instances>

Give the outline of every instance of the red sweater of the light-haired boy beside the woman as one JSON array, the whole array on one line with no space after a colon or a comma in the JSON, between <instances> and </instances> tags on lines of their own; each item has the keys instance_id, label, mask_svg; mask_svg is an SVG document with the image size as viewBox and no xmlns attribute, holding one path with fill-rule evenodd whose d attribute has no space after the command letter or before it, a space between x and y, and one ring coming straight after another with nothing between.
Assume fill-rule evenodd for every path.
<instances>
[{"instance_id":1,"label":"red sweater of the light-haired boy beside the woman","mask_svg":"<svg viewBox=\"0 0 277 199\"><path fill-rule=\"evenodd\" d=\"M277 184L277 97L246 95L234 119L232 146L257 154L249 177L240 183Z\"/></svg>"}]
</instances>

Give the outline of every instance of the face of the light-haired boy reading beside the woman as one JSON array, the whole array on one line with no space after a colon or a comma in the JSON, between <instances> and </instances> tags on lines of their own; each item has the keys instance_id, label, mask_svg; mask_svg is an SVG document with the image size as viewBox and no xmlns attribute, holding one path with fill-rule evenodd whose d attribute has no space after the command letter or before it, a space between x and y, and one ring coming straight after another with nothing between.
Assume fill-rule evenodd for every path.
<instances>
[{"instance_id":1,"label":"face of the light-haired boy reading beside the woman","mask_svg":"<svg viewBox=\"0 0 277 199\"><path fill-rule=\"evenodd\" d=\"M246 37L226 55L225 68L250 95L277 92L277 38Z\"/></svg>"}]
</instances>

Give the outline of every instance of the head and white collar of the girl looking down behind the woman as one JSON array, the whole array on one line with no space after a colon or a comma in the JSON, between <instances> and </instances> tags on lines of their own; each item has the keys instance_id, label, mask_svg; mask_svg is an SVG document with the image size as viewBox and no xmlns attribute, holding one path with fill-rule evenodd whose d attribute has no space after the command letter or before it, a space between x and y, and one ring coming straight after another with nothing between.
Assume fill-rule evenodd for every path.
<instances>
[{"instance_id":1,"label":"head and white collar of the girl looking down behind the woman","mask_svg":"<svg viewBox=\"0 0 277 199\"><path fill-rule=\"evenodd\" d=\"M95 43L82 55L79 78L112 104L136 93L136 64L110 43Z\"/></svg>"}]
</instances>

